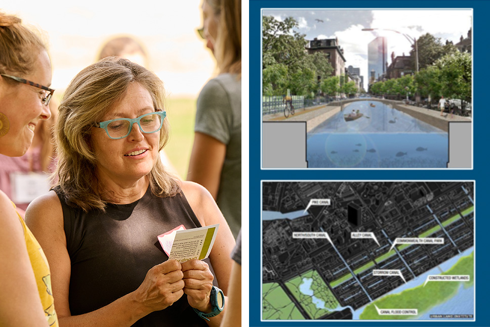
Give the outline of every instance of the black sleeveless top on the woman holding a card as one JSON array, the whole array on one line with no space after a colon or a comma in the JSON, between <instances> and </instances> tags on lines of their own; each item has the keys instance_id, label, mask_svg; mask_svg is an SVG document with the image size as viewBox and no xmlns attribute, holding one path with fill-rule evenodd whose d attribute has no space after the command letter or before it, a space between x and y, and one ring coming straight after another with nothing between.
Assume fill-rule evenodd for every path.
<instances>
[{"instance_id":1,"label":"black sleeveless top on the woman holding a card","mask_svg":"<svg viewBox=\"0 0 490 327\"><path fill-rule=\"evenodd\" d=\"M169 257L157 236L181 224L201 227L182 193L158 198L150 188L138 201L109 204L106 212L85 213L66 204L59 188L66 247L71 260L69 303L72 315L95 311L135 291L148 270ZM211 262L211 272L214 274ZM215 280L215 286L218 286ZM141 318L133 326L207 326L184 294L172 306Z\"/></svg>"}]
</instances>

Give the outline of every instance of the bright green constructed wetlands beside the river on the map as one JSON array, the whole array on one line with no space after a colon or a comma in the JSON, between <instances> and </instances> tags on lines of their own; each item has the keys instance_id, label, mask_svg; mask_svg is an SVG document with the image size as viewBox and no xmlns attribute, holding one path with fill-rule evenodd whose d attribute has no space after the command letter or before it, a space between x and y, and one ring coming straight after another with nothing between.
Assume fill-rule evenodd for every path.
<instances>
[{"instance_id":1,"label":"bright green constructed wetlands beside the river on the map","mask_svg":"<svg viewBox=\"0 0 490 327\"><path fill-rule=\"evenodd\" d=\"M458 293L461 284L468 288L474 283L474 252L460 258L451 269L441 275L469 275L469 282L427 282L410 290L398 294L390 294L370 303L360 314L359 319L410 319L410 315L379 315L379 309L418 309L419 315L427 312ZM425 281L424 281L425 282Z\"/></svg>"}]
</instances>

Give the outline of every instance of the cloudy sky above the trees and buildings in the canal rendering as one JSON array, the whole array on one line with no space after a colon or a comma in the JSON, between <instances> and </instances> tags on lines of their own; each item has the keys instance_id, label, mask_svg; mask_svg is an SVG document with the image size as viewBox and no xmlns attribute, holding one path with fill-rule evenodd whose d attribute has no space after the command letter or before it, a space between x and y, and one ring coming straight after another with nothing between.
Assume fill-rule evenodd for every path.
<instances>
[{"instance_id":1,"label":"cloudy sky above the trees and buildings in the canal rendering","mask_svg":"<svg viewBox=\"0 0 490 327\"><path fill-rule=\"evenodd\" d=\"M425 33L435 37L459 42L461 35L467 36L472 25L472 10L368 10L368 9L264 9L264 16L277 20L293 17L299 23L296 29L306 34L307 40L313 38L339 38L344 49L346 67L360 68L364 81L368 71L368 43L376 36L386 36L388 43L388 63L391 53L409 55L411 43L400 34L390 31L362 31L363 28L385 28L418 38ZM322 20L318 22L316 19ZM365 82L364 82L365 83Z\"/></svg>"}]
</instances>

